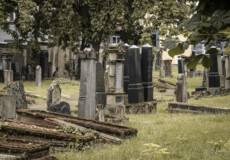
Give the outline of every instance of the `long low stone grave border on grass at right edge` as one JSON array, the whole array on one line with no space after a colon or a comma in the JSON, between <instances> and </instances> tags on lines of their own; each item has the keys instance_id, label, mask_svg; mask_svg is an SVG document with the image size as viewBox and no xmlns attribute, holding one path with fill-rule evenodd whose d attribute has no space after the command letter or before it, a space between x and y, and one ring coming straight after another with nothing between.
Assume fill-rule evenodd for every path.
<instances>
[{"instance_id":1,"label":"long low stone grave border on grass at right edge","mask_svg":"<svg viewBox=\"0 0 230 160\"><path fill-rule=\"evenodd\" d=\"M171 113L230 113L230 108L194 105L188 103L168 103L168 112Z\"/></svg>"}]
</instances>

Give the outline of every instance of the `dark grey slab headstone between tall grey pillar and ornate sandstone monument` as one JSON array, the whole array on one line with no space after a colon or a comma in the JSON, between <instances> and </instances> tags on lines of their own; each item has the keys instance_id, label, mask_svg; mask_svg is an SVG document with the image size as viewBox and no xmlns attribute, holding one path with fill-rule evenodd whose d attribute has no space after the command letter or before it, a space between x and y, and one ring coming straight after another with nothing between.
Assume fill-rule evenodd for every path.
<instances>
[{"instance_id":1,"label":"dark grey slab headstone between tall grey pillar and ornate sandstone monument","mask_svg":"<svg viewBox=\"0 0 230 160\"><path fill-rule=\"evenodd\" d=\"M104 69L100 62L96 63L96 104L106 105Z\"/></svg>"}]
</instances>

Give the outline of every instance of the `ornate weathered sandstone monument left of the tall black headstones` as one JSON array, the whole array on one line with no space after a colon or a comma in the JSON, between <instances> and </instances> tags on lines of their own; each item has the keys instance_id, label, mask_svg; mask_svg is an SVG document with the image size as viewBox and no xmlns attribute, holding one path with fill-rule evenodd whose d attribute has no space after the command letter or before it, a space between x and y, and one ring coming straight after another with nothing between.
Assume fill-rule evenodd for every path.
<instances>
[{"instance_id":1,"label":"ornate weathered sandstone monument left of the tall black headstones","mask_svg":"<svg viewBox=\"0 0 230 160\"><path fill-rule=\"evenodd\" d=\"M108 91L106 92L105 117L111 121L126 121L125 117L125 93L124 82L124 56L125 46L123 44L109 46L109 73ZM115 120L116 119L116 120ZM108 118L106 119L108 120Z\"/></svg>"}]
</instances>

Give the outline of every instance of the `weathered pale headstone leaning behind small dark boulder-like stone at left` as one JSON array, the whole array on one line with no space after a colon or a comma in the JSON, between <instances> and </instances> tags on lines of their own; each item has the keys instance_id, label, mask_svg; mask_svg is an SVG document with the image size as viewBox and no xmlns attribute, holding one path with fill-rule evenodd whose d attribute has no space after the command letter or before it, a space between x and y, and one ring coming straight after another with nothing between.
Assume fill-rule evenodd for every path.
<instances>
[{"instance_id":1,"label":"weathered pale headstone leaning behind small dark boulder-like stone at left","mask_svg":"<svg viewBox=\"0 0 230 160\"><path fill-rule=\"evenodd\" d=\"M61 88L58 82L53 81L47 89L47 110L49 111L49 107L59 101L61 101Z\"/></svg>"}]
</instances>

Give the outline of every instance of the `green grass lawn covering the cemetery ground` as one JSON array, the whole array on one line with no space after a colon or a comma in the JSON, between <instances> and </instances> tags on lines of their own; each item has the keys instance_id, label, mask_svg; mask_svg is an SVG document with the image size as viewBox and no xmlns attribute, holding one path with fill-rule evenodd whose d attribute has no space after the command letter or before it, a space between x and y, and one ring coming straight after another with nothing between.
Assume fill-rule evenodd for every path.
<instances>
[{"instance_id":1,"label":"green grass lawn covering the cemetery ground","mask_svg":"<svg viewBox=\"0 0 230 160\"><path fill-rule=\"evenodd\" d=\"M201 70L201 69L200 69ZM154 72L158 77L159 72ZM177 68L173 78L165 80L176 83ZM154 79L155 81L155 79ZM26 82L25 89L46 95L51 81L44 81L42 88L34 82ZM188 78L188 91L201 86L202 77ZM3 85L0 84L0 88ZM61 85L62 93L77 97L79 85ZM158 99L173 99L173 95L155 94ZM191 104L230 108L229 96L189 99ZM85 151L53 153L60 160L228 160L230 159L230 115L170 114L167 102L158 103L157 113L127 115L127 126L138 129L138 135L124 140L121 145L94 146Z\"/></svg>"}]
</instances>

